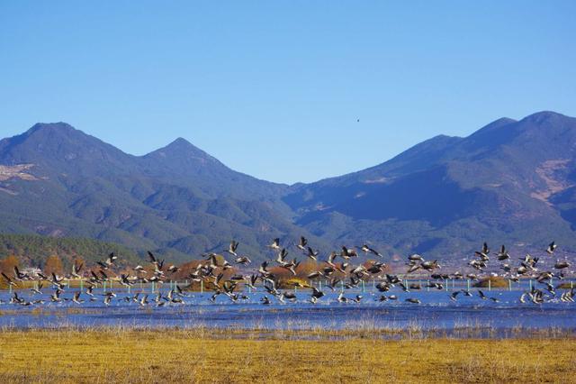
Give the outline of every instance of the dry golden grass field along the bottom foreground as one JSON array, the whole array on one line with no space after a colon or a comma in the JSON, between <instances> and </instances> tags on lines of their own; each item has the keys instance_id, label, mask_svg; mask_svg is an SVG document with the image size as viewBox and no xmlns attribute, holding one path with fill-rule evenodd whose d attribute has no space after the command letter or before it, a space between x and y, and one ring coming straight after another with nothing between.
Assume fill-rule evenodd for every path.
<instances>
[{"instance_id":1,"label":"dry golden grass field along the bottom foreground","mask_svg":"<svg viewBox=\"0 0 576 384\"><path fill-rule=\"evenodd\" d=\"M574 339L212 337L208 330L4 330L0 382L574 382Z\"/></svg>"}]
</instances>

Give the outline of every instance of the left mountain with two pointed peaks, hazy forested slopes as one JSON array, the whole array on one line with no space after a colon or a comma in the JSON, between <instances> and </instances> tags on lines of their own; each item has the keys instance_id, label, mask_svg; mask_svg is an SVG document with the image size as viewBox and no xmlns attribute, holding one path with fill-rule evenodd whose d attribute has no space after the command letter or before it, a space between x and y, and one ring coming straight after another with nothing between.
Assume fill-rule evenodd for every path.
<instances>
[{"instance_id":1,"label":"left mountain with two pointed peaks, hazy forested slopes","mask_svg":"<svg viewBox=\"0 0 576 384\"><path fill-rule=\"evenodd\" d=\"M258 260L274 237L314 237L291 222L287 186L235 172L183 139L136 157L41 123L0 141L0 164L3 233L91 237L176 261L232 238Z\"/></svg>"}]
</instances>

